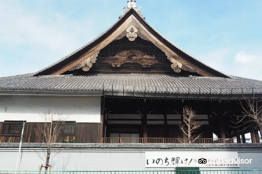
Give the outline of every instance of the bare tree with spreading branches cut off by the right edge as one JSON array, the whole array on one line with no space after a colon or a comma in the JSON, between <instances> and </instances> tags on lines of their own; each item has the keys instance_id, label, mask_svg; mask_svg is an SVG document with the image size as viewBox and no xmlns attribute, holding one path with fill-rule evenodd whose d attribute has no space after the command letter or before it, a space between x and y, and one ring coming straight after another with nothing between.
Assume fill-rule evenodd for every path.
<instances>
[{"instance_id":1,"label":"bare tree with spreading branches cut off by the right edge","mask_svg":"<svg viewBox=\"0 0 262 174\"><path fill-rule=\"evenodd\" d=\"M232 121L232 122L235 124L240 124L240 126L244 126L244 129L251 126L254 126L256 128L258 127L260 135L262 136L262 103L261 101L255 101L254 97L253 99L246 99L244 97L244 99L247 107L245 107L245 105L243 105L240 101L240 104L244 110L244 112L242 112L243 115L241 116L235 115L237 116L237 120L239 121L238 122ZM241 119L238 119L238 117L240 117Z\"/></svg>"}]
</instances>

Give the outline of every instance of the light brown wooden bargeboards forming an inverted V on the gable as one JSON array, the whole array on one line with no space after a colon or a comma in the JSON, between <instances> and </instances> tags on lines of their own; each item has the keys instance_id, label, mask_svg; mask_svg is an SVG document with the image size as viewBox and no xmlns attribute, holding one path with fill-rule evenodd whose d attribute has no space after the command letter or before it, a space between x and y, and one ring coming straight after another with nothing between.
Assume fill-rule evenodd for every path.
<instances>
[{"instance_id":1,"label":"light brown wooden bargeboards forming an inverted V on the gable","mask_svg":"<svg viewBox=\"0 0 262 174\"><path fill-rule=\"evenodd\" d=\"M214 75L206 72L205 70L203 70L203 69L197 67L196 65L194 65L190 62L187 62L183 58L179 57L174 51L172 51L166 45L164 45L162 43L162 41L157 39L133 14L131 14L114 32L112 32L110 35L108 35L106 39L104 39L99 44L97 44L96 46L91 48L88 52L86 52L85 54L80 56L79 59L68 63L66 66L63 66L61 69L59 69L58 71L56 71L52 75L60 75L61 73L69 70L70 68L77 66L78 64L80 64L84 60L86 60L89 57L91 57L92 55L94 55L96 52L100 51L102 48L105 48L105 46L107 46L112 41L114 41L116 38L118 38L119 35L121 35L121 37L122 37L123 33L127 32L128 29L130 31L130 29L131 29L130 26L134 26L134 28L137 29L137 32L139 31L141 33L141 35L144 36L144 38L147 38L149 41L151 41L153 44L155 44L155 46L160 48L163 52L167 53L170 57L176 57L176 59L175 59L176 61L172 62L174 65L173 64L171 65L171 68L173 68L175 72L179 71L180 68L182 68L182 67L184 69L188 69L188 68L185 68L185 66L188 66L188 67L192 68L192 71L195 71L195 72L197 72L197 73L199 73L203 76L215 77ZM135 31L134 28L132 29L132 32L130 31L131 34L133 34L133 32ZM128 33L126 33L126 36L127 35L128 35ZM129 33L129 37L130 37L130 33ZM134 36L133 36L133 38L134 38ZM130 37L129 39L132 39L132 37ZM185 66L183 66L183 65L185 65Z\"/></svg>"}]
</instances>

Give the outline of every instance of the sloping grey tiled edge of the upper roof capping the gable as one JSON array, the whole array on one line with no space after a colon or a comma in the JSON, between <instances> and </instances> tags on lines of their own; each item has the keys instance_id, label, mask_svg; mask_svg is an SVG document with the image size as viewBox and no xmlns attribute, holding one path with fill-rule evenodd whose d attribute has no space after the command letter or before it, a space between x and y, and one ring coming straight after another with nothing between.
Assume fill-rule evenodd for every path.
<instances>
[{"instance_id":1,"label":"sloping grey tiled edge of the upper roof capping the gable","mask_svg":"<svg viewBox=\"0 0 262 174\"><path fill-rule=\"evenodd\" d=\"M44 71L44 70L47 70L48 68L51 68L52 66L54 66L54 65L56 65L56 64L64 61L65 59L71 57L72 55L76 54L76 53L79 52L80 50L83 50L84 48L86 48L87 46L89 46L90 44L92 44L93 42L95 42L96 40L98 40L100 37L102 37L102 36L105 35L107 32L109 32L109 30L110 30L111 28L113 28L114 26L116 26L116 24L119 23L119 21L121 21L121 19L122 19L130 10L133 10L134 12L136 12L136 13L138 14L138 16L141 17L141 19L146 23L146 25L148 25L148 26L149 26L152 30L154 30L161 38L163 38L164 40L166 40L167 42L169 42L169 43L170 43L171 45L173 45L175 48L177 48L178 50L182 51L182 52L185 53L186 55L192 57L194 60L200 62L200 63L203 64L204 66L207 66L207 67L210 68L210 69L213 69L213 70L215 70L215 71L217 71L217 72L219 72L219 73L221 73L221 74L223 74L223 75L225 75L225 76L227 76L227 77L230 77L230 76L228 76L228 75L226 75L226 74L224 74L224 73L222 73L222 72L220 72L220 71L218 71L218 70L216 70L216 69L214 69L214 68L212 68L212 67L204 64L203 62L201 62L201 61L199 61L198 59L194 58L193 56L191 56L190 54L188 54L187 52L185 52L184 50L182 50L181 48L179 48L178 46L176 46L174 43L172 43L171 41L169 41L169 40L168 40L166 37L164 37L160 32L158 32L157 30L155 30L149 23L147 23L147 21L145 20L145 17L144 17L144 15L142 14L142 11L141 11L140 8L124 8L123 11L122 11L122 13L121 13L121 15L119 16L118 21L116 21L116 23L114 23L110 28L108 28L107 30L105 30L104 32L102 32L100 35L98 35L98 37L96 37L96 38L93 39L92 41L88 42L87 44L85 44L85 45L82 46L81 48L79 48L79 49L75 50L74 52L70 53L69 55L63 57L62 59L60 59L60 60L58 60L58 61L56 61L55 63L53 63L53 64L51 64L51 65L49 65L49 66L47 66L47 67L45 67L45 68L37 71L36 73L32 73L32 76L33 76L33 75L36 75L36 74L38 74L38 73L40 73L40 72L42 72L42 71Z\"/></svg>"}]
</instances>

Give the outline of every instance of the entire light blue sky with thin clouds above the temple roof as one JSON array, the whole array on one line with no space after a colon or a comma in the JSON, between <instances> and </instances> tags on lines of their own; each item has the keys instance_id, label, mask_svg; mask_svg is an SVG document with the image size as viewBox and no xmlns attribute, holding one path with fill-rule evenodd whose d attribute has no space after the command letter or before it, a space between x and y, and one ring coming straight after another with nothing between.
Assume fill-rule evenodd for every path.
<instances>
[{"instance_id":1,"label":"entire light blue sky with thin clouds above the temple roof","mask_svg":"<svg viewBox=\"0 0 262 174\"><path fill-rule=\"evenodd\" d=\"M126 0L0 0L0 77L35 72L118 20ZM261 0L137 0L174 44L230 75L262 80Z\"/></svg>"}]
</instances>

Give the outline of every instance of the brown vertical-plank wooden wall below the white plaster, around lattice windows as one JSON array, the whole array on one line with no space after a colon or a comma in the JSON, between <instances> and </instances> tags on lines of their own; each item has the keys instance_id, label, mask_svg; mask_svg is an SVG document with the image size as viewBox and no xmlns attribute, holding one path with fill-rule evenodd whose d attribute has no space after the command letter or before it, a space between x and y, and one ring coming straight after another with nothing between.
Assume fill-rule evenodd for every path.
<instances>
[{"instance_id":1,"label":"brown vertical-plank wooden wall below the white plaster, around lattice windows","mask_svg":"<svg viewBox=\"0 0 262 174\"><path fill-rule=\"evenodd\" d=\"M0 122L0 133L2 131L3 123ZM26 123L24 127L23 143L40 143L44 137L37 137L35 130L37 132L41 131L43 128L43 123ZM60 136L57 141L62 139L77 139L80 143L97 143L98 142L98 131L99 124L92 123L76 123L75 124L75 136ZM18 143L20 142L20 136L8 137L1 136L0 143Z\"/></svg>"}]
</instances>

